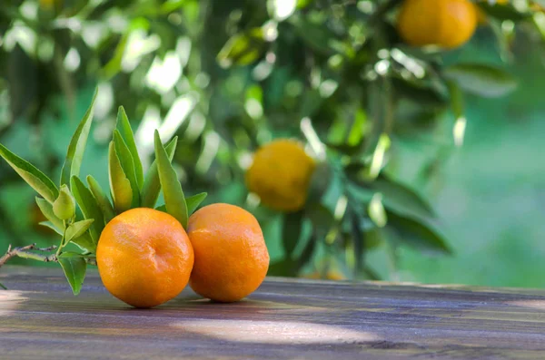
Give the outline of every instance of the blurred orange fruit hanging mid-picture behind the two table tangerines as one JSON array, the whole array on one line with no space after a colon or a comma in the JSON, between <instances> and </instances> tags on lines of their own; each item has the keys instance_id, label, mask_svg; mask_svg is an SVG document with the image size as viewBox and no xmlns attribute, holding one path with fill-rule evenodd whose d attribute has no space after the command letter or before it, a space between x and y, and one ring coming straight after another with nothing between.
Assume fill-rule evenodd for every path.
<instances>
[{"instance_id":1,"label":"blurred orange fruit hanging mid-picture behind the two table tangerines","mask_svg":"<svg viewBox=\"0 0 545 360\"><path fill-rule=\"evenodd\" d=\"M279 139L262 146L246 171L248 190L279 211L302 209L315 163L298 141Z\"/></svg>"}]
</instances>

